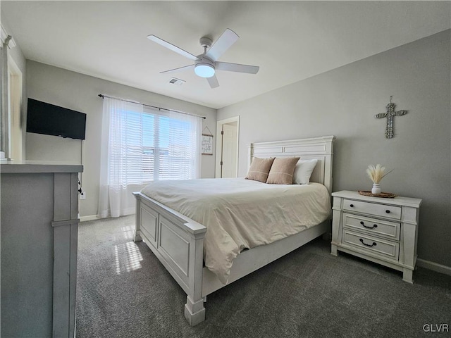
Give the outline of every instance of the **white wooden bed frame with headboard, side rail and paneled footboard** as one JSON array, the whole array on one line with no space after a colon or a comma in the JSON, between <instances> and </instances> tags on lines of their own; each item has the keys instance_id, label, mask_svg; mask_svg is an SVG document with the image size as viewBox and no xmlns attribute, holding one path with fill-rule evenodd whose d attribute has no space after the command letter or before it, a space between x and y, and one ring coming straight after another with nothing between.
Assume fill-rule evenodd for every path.
<instances>
[{"instance_id":1,"label":"white wooden bed frame with headboard, side rail and paneled footboard","mask_svg":"<svg viewBox=\"0 0 451 338\"><path fill-rule=\"evenodd\" d=\"M332 158L335 137L315 137L278 142L248 144L248 168L254 156L316 158L318 164L311 182L324 184L332 191ZM194 326L205 320L206 296L225 287L214 273L203 266L206 227L185 215L150 199L140 192L136 197L134 241L149 246L176 282L187 294L185 318ZM310 242L327 232L329 220L285 239L243 251L233 261L228 284Z\"/></svg>"}]
</instances>

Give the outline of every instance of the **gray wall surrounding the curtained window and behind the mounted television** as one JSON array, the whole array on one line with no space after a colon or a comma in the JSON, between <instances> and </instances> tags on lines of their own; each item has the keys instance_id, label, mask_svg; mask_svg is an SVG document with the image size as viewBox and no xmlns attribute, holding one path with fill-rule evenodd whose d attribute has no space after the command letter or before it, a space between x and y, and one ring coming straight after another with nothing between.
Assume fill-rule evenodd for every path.
<instances>
[{"instance_id":1,"label":"gray wall surrounding the curtained window and behind the mounted television","mask_svg":"<svg viewBox=\"0 0 451 338\"><path fill-rule=\"evenodd\" d=\"M82 186L86 199L80 201L80 216L97 214L99 196L102 99L107 94L152 106L206 116L203 127L216 133L216 109L190 104L168 96L146 92L97 77L27 61L27 96L87 114L86 139L26 133L26 159L82 163ZM202 177L214 177L214 156L202 156Z\"/></svg>"}]
</instances>

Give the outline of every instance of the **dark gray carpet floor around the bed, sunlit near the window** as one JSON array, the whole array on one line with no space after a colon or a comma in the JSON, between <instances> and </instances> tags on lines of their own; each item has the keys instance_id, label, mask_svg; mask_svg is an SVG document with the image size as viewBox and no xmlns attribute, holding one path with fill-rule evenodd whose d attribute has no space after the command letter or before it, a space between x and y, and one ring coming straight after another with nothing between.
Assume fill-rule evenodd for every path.
<instances>
[{"instance_id":1,"label":"dark gray carpet floor around the bed, sunlit near the window","mask_svg":"<svg viewBox=\"0 0 451 338\"><path fill-rule=\"evenodd\" d=\"M402 274L340 253L322 239L207 297L206 321L190 327L186 295L143 242L134 216L81 223L76 336L450 337L451 277ZM436 330L436 329L435 329Z\"/></svg>"}]
</instances>

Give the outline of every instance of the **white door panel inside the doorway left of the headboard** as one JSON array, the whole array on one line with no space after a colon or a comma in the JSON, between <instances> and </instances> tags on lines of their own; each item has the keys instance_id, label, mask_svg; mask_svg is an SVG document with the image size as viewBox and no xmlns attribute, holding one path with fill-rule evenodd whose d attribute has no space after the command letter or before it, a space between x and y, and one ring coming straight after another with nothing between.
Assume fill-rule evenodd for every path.
<instances>
[{"instance_id":1,"label":"white door panel inside the doorway left of the headboard","mask_svg":"<svg viewBox=\"0 0 451 338\"><path fill-rule=\"evenodd\" d=\"M223 125L223 160L221 177L237 177L237 124Z\"/></svg>"}]
</instances>

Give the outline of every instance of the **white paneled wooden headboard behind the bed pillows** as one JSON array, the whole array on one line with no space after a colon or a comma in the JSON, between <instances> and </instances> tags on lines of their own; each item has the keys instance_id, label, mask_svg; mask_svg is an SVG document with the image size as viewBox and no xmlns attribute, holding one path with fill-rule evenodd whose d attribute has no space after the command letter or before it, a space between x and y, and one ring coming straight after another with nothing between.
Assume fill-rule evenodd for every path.
<instances>
[{"instance_id":1,"label":"white paneled wooden headboard behind the bed pillows","mask_svg":"<svg viewBox=\"0 0 451 338\"><path fill-rule=\"evenodd\" d=\"M254 156L259 158L300 156L304 160L316 158L318 163L311 174L310 182L324 184L331 193L334 141L335 136L323 136L247 144L247 168L251 165Z\"/></svg>"}]
</instances>

